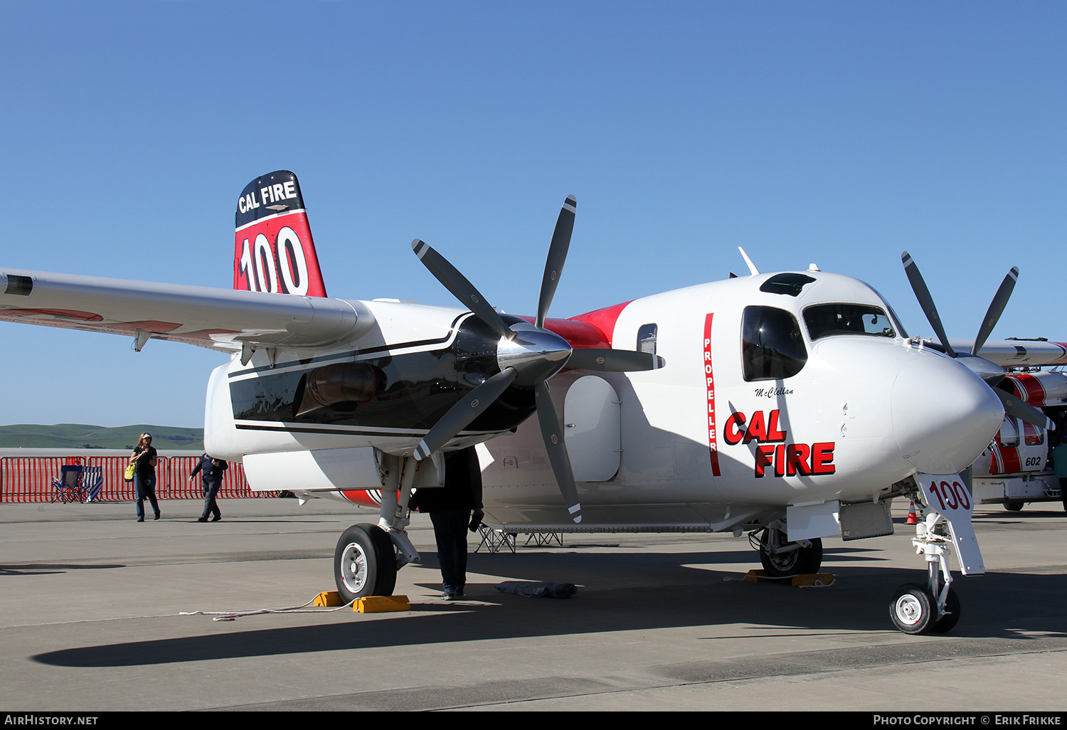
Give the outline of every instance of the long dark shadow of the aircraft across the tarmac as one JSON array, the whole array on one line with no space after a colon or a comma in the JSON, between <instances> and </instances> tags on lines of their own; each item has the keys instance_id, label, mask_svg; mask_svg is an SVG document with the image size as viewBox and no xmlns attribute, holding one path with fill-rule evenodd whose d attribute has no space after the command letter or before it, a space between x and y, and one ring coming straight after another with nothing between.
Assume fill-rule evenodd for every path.
<instances>
[{"instance_id":1,"label":"long dark shadow of the aircraft across the tarmac","mask_svg":"<svg viewBox=\"0 0 1067 730\"><path fill-rule=\"evenodd\" d=\"M738 580L740 572L686 567L712 562L710 557L721 562L726 556L710 556L706 552L595 556L600 564L595 567L584 565L573 573L561 571L567 574L548 578L583 586L575 598L566 601L503 594L492 584L468 583L465 603L415 604L411 613L402 615L352 616L345 610L325 615L315 625L79 647L36 654L32 660L63 667L148 666L686 626L706 626L707 636L701 638L714 639L718 637L715 628L727 624L734 624L729 634L732 636L737 635L739 624L757 632L744 635L759 635L767 629L794 633L876 632L872 640L885 644L885 632L892 631L889 600L893 590L902 583L924 580L921 570L827 566L838 574L837 585L801 590L780 584L745 583ZM551 572L545 569L544 557L538 562L542 574ZM510 574L525 573L522 566L513 567L516 570ZM471 568L477 571L476 566ZM596 589L599 569L610 569L618 584L620 571L639 574L653 568L663 571L657 576L659 585ZM1067 639L1067 617L1060 609L1067 596L1067 575L989 573L960 578L954 585L962 604L960 622L951 634L930 637L947 642L944 650L949 653L954 638ZM300 615L300 620L306 619L306 614ZM260 620L242 619L249 623ZM273 615L270 620L285 618Z\"/></svg>"}]
</instances>

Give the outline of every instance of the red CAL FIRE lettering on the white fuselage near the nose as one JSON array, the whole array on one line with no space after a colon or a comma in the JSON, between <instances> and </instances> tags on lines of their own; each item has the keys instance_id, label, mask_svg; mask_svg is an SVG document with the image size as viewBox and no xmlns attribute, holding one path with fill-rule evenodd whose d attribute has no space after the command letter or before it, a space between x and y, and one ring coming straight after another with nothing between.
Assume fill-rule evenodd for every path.
<instances>
[{"instance_id":1,"label":"red CAL FIRE lettering on the white fuselage near the nose","mask_svg":"<svg viewBox=\"0 0 1067 730\"><path fill-rule=\"evenodd\" d=\"M787 433L780 427L781 411L764 414L755 411L748 418L737 411L722 427L722 440L731 446L755 443L755 476L816 476L833 474L832 441L813 444L787 444Z\"/></svg>"}]
</instances>

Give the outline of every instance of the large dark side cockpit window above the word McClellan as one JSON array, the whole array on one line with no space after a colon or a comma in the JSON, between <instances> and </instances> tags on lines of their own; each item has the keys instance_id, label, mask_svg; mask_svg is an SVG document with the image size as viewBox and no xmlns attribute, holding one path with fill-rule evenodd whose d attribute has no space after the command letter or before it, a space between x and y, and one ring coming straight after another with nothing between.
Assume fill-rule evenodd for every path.
<instances>
[{"instance_id":1,"label":"large dark side cockpit window above the word McClellan","mask_svg":"<svg viewBox=\"0 0 1067 730\"><path fill-rule=\"evenodd\" d=\"M796 318L774 306L745 307L740 352L745 380L790 378L808 362Z\"/></svg>"}]
</instances>

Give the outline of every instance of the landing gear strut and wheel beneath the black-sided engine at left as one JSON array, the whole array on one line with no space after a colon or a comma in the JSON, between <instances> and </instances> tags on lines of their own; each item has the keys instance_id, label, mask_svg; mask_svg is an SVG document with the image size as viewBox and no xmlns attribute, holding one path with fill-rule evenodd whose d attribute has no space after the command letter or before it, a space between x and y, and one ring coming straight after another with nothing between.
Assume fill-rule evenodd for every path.
<instances>
[{"instance_id":1,"label":"landing gear strut and wheel beneath the black-sided engine at left","mask_svg":"<svg viewBox=\"0 0 1067 730\"><path fill-rule=\"evenodd\" d=\"M408 501L418 464L414 459L382 455L382 509L377 525L352 525L334 551L334 582L341 600L365 596L392 596L397 571L418 562L418 552L408 538Z\"/></svg>"}]
</instances>

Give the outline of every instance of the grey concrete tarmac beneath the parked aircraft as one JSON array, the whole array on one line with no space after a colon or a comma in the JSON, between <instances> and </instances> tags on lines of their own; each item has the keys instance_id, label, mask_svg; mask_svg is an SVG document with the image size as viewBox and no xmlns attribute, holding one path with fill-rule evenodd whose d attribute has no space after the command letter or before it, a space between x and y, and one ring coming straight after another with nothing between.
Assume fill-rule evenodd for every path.
<instances>
[{"instance_id":1,"label":"grey concrete tarmac beneath the parked aircraft","mask_svg":"<svg viewBox=\"0 0 1067 730\"><path fill-rule=\"evenodd\" d=\"M924 581L904 524L825 540L828 588L742 582L759 567L744 537L588 535L474 554L465 600L445 602L415 515L410 612L182 615L299 606L333 589L340 533L377 521L324 499L220 505L206 524L192 501L145 523L130 503L0 505L0 710L1067 709L1058 504L980 507L989 572L957 577L951 634L918 637L889 620L893 590ZM505 580L578 593L504 594Z\"/></svg>"}]
</instances>

